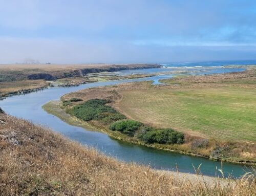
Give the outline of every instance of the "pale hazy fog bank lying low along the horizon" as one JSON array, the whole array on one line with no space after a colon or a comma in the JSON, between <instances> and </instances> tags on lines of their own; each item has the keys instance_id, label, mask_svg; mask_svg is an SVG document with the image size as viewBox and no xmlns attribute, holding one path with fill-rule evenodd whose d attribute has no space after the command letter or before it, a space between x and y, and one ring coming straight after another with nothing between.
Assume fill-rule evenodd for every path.
<instances>
[{"instance_id":1,"label":"pale hazy fog bank lying low along the horizon","mask_svg":"<svg viewBox=\"0 0 256 196\"><path fill-rule=\"evenodd\" d=\"M256 47L136 46L126 42L67 39L0 38L0 63L35 59L42 63L160 63L171 61L251 59Z\"/></svg>"}]
</instances>

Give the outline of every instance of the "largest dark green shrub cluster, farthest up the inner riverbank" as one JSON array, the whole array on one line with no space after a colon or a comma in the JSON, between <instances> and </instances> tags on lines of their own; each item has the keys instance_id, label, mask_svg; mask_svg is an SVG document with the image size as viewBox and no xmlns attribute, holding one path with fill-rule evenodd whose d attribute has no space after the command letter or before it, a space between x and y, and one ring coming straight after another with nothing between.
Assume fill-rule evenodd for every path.
<instances>
[{"instance_id":1,"label":"largest dark green shrub cluster, farthest up the inner riverbank","mask_svg":"<svg viewBox=\"0 0 256 196\"><path fill-rule=\"evenodd\" d=\"M84 121L98 120L103 124L109 124L126 118L113 107L105 105L106 103L109 103L106 99L91 99L74 106L70 113Z\"/></svg>"}]
</instances>

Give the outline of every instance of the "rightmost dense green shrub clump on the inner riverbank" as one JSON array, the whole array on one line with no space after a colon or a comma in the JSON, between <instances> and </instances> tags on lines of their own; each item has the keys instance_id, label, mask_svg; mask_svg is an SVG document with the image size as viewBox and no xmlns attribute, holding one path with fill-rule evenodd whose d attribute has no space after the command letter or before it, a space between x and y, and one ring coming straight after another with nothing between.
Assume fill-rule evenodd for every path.
<instances>
[{"instance_id":1,"label":"rightmost dense green shrub clump on the inner riverbank","mask_svg":"<svg viewBox=\"0 0 256 196\"><path fill-rule=\"evenodd\" d=\"M184 134L176 132L173 129L155 129L142 135L142 140L146 143L159 144L182 144L184 143Z\"/></svg>"}]
</instances>

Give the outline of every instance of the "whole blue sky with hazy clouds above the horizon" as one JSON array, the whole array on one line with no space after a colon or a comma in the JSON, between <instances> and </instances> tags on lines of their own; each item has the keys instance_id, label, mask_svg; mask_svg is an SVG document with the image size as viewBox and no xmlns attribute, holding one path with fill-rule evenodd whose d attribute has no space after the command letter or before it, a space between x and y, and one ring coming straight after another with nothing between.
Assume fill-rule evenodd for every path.
<instances>
[{"instance_id":1,"label":"whole blue sky with hazy clouds above the horizon","mask_svg":"<svg viewBox=\"0 0 256 196\"><path fill-rule=\"evenodd\" d=\"M0 0L0 64L256 59L256 1Z\"/></svg>"}]
</instances>

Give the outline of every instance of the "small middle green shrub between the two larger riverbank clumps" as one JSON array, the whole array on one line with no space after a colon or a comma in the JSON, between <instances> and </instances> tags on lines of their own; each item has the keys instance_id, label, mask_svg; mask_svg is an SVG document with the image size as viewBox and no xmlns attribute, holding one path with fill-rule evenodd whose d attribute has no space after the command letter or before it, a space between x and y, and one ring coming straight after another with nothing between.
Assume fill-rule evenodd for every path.
<instances>
[{"instance_id":1,"label":"small middle green shrub between the two larger riverbank clumps","mask_svg":"<svg viewBox=\"0 0 256 196\"><path fill-rule=\"evenodd\" d=\"M112 123L109 128L111 130L117 130L129 136L134 136L136 130L138 130L143 124L135 120L121 120Z\"/></svg>"}]
</instances>

